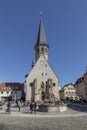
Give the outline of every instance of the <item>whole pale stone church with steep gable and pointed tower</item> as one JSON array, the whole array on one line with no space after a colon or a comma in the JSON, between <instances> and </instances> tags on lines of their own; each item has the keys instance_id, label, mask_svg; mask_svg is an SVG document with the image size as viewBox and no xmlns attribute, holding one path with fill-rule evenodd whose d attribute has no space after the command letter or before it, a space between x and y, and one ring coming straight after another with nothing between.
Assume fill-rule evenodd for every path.
<instances>
[{"instance_id":1,"label":"whole pale stone church with steep gable and pointed tower","mask_svg":"<svg viewBox=\"0 0 87 130\"><path fill-rule=\"evenodd\" d=\"M59 100L59 78L48 63L49 45L46 41L42 16L34 46L35 63L32 70L25 76L26 102Z\"/></svg>"}]
</instances>

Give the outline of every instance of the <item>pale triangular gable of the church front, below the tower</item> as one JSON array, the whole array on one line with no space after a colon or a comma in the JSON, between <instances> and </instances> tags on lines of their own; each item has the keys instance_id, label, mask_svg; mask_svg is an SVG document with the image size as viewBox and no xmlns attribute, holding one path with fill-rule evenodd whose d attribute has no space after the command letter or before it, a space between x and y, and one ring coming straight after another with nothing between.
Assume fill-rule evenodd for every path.
<instances>
[{"instance_id":1,"label":"pale triangular gable of the church front, below the tower","mask_svg":"<svg viewBox=\"0 0 87 130\"><path fill-rule=\"evenodd\" d=\"M28 74L26 80L28 80L29 78L35 79L37 77L59 80L43 55L39 57L35 66L32 68L31 72Z\"/></svg>"}]
</instances>

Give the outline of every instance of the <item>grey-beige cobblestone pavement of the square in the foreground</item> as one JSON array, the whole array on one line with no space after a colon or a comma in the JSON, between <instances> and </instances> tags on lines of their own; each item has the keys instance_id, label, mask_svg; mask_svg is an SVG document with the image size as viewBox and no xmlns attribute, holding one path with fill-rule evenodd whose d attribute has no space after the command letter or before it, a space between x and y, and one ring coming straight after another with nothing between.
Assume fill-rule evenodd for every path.
<instances>
[{"instance_id":1,"label":"grey-beige cobblestone pavement of the square in the foreground","mask_svg":"<svg viewBox=\"0 0 87 130\"><path fill-rule=\"evenodd\" d=\"M84 108L84 109L83 109ZM87 105L71 105L66 112L30 114L28 107L0 112L0 130L87 130Z\"/></svg>"}]
</instances>

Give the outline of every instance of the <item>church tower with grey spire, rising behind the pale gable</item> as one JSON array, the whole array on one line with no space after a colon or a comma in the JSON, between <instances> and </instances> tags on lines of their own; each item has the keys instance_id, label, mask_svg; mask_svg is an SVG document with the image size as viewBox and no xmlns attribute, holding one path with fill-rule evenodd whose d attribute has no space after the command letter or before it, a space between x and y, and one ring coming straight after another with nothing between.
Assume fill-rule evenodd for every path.
<instances>
[{"instance_id":1,"label":"church tower with grey spire, rising behind the pale gable","mask_svg":"<svg viewBox=\"0 0 87 130\"><path fill-rule=\"evenodd\" d=\"M42 14L41 14L37 42L35 44L36 62L41 55L43 55L48 61L48 49L49 49L49 45L46 42L46 37L45 37L45 32L44 32L44 27L42 22Z\"/></svg>"}]
</instances>

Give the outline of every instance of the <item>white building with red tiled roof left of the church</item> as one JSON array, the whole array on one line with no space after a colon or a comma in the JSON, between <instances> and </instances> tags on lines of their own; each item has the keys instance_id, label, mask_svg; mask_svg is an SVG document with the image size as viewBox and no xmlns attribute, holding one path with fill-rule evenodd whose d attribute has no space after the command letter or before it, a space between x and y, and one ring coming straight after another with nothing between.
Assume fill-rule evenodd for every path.
<instances>
[{"instance_id":1,"label":"white building with red tiled roof left of the church","mask_svg":"<svg viewBox=\"0 0 87 130\"><path fill-rule=\"evenodd\" d=\"M24 83L3 82L0 83L0 100L17 100L24 95Z\"/></svg>"}]
</instances>

